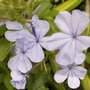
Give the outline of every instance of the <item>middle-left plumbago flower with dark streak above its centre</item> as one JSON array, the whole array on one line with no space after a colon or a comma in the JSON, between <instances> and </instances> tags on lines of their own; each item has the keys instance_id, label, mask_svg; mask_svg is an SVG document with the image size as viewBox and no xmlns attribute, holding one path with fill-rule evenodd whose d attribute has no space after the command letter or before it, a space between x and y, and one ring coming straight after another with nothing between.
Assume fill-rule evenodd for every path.
<instances>
[{"instance_id":1,"label":"middle-left plumbago flower with dark streak above its centre","mask_svg":"<svg viewBox=\"0 0 90 90\"><path fill-rule=\"evenodd\" d=\"M29 41L29 45L32 46L28 50L27 56L32 62L40 62L44 58L44 52L42 49L42 38L49 31L49 23L45 20L39 20L37 16L33 16L30 23L26 23L30 32L23 28L18 22L8 22L6 27L9 31L5 32L5 37L11 42L15 42L16 39L26 38Z\"/></svg>"}]
</instances>

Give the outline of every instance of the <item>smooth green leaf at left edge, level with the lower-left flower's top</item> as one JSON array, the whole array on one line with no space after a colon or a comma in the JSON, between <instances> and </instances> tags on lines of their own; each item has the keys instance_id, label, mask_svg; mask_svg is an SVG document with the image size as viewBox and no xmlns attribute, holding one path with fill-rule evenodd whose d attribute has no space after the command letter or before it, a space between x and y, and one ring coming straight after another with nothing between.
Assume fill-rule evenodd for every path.
<instances>
[{"instance_id":1,"label":"smooth green leaf at left edge, level with the lower-left flower's top","mask_svg":"<svg viewBox=\"0 0 90 90\"><path fill-rule=\"evenodd\" d=\"M0 61L3 61L10 51L11 43L5 38L0 39Z\"/></svg>"}]
</instances>

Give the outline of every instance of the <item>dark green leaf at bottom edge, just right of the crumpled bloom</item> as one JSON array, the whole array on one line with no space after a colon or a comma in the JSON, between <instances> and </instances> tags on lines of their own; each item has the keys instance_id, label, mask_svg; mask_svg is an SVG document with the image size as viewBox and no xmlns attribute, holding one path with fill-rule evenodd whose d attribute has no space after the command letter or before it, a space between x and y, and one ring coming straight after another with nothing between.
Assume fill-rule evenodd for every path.
<instances>
[{"instance_id":1,"label":"dark green leaf at bottom edge, just right of the crumpled bloom","mask_svg":"<svg viewBox=\"0 0 90 90\"><path fill-rule=\"evenodd\" d=\"M45 71L39 71L34 74L30 74L27 82L28 90L39 90L39 88L44 87L46 82L47 73Z\"/></svg>"}]
</instances>

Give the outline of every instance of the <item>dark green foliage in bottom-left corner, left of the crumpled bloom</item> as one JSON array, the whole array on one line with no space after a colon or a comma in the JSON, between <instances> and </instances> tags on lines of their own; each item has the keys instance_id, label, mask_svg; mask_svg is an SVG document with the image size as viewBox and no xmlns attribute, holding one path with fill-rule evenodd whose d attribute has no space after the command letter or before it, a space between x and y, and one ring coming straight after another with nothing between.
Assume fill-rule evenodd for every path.
<instances>
[{"instance_id":1,"label":"dark green foliage in bottom-left corner, left of the crumpled bloom","mask_svg":"<svg viewBox=\"0 0 90 90\"><path fill-rule=\"evenodd\" d=\"M14 90L10 83L11 77L7 68L7 60L8 58L0 62L0 90Z\"/></svg>"}]
</instances>

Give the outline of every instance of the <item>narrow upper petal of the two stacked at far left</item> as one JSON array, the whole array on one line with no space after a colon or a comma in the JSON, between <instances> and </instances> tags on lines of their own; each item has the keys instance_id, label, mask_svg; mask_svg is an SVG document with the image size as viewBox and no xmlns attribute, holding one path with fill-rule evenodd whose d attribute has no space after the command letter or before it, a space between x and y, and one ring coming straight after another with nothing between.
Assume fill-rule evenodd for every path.
<instances>
[{"instance_id":1,"label":"narrow upper petal of the two stacked at far left","mask_svg":"<svg viewBox=\"0 0 90 90\"><path fill-rule=\"evenodd\" d=\"M23 30L23 26L18 22L7 22L6 27L10 30Z\"/></svg>"}]
</instances>

